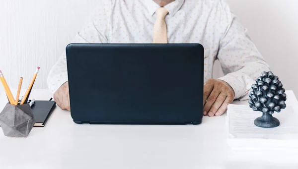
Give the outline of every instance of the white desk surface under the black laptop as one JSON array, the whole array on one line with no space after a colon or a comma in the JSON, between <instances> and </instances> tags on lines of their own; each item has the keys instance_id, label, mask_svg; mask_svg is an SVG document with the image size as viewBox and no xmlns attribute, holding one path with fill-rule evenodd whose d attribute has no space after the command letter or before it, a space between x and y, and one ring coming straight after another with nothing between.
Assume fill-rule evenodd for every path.
<instances>
[{"instance_id":1,"label":"white desk surface under the black laptop","mask_svg":"<svg viewBox=\"0 0 298 169\"><path fill-rule=\"evenodd\" d=\"M31 96L52 97L47 90L33 90ZM0 110L6 102L0 96ZM229 159L224 127L225 114L205 116L200 125L75 124L70 112L57 107L46 126L34 127L27 138L5 137L0 129L0 169L298 168L264 161L274 157L260 162Z\"/></svg>"}]
</instances>

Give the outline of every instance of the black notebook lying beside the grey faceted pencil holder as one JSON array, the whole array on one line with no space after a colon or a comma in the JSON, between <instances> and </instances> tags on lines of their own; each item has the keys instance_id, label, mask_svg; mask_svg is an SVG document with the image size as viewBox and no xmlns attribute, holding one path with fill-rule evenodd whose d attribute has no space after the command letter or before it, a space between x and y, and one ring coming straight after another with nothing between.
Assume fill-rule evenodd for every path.
<instances>
[{"instance_id":1,"label":"black notebook lying beside the grey faceted pencil holder","mask_svg":"<svg viewBox=\"0 0 298 169\"><path fill-rule=\"evenodd\" d=\"M55 101L35 101L31 106L34 114L34 127L43 127L56 107Z\"/></svg>"}]
</instances>

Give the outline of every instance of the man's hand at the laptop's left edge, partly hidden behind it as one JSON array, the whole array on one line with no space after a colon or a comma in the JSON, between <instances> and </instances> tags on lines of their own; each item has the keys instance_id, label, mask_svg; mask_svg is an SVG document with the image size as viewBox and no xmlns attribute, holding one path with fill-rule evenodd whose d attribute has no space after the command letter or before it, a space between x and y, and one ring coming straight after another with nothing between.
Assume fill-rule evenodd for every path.
<instances>
[{"instance_id":1,"label":"man's hand at the laptop's left edge, partly hidden behind it","mask_svg":"<svg viewBox=\"0 0 298 169\"><path fill-rule=\"evenodd\" d=\"M64 83L55 93L54 100L62 110L71 111L68 82Z\"/></svg>"}]
</instances>

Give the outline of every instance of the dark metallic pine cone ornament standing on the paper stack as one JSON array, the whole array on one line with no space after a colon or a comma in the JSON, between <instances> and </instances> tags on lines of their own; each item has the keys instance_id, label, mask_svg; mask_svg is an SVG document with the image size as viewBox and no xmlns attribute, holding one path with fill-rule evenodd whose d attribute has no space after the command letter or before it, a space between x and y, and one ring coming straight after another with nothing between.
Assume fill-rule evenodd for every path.
<instances>
[{"instance_id":1,"label":"dark metallic pine cone ornament standing on the paper stack","mask_svg":"<svg viewBox=\"0 0 298 169\"><path fill-rule=\"evenodd\" d=\"M273 117L274 112L280 113L286 108L286 90L282 82L271 71L262 72L256 79L256 84L251 86L249 93L249 107L253 111L262 112L263 115L254 120L254 124L263 128L272 128L280 125L280 121Z\"/></svg>"}]
</instances>

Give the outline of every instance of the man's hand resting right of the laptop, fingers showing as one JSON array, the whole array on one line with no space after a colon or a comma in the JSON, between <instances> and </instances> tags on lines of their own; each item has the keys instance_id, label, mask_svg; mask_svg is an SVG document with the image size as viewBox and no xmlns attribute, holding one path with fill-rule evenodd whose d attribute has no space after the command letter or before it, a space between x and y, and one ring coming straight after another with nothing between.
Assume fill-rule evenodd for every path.
<instances>
[{"instance_id":1,"label":"man's hand resting right of the laptop, fingers showing","mask_svg":"<svg viewBox=\"0 0 298 169\"><path fill-rule=\"evenodd\" d=\"M232 103L235 92L223 80L209 79L204 86L204 115L222 115L229 103Z\"/></svg>"}]
</instances>

